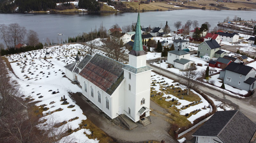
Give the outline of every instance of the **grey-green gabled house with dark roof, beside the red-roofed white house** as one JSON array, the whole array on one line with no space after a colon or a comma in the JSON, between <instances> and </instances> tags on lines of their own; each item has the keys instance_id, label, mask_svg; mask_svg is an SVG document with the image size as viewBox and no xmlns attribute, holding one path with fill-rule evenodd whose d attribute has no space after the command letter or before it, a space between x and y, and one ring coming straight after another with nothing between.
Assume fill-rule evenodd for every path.
<instances>
[{"instance_id":1,"label":"grey-green gabled house with dark roof, beside the red-roofed white house","mask_svg":"<svg viewBox=\"0 0 256 143\"><path fill-rule=\"evenodd\" d=\"M204 41L198 45L197 56L208 56L209 59L212 59L212 57L215 56L215 52L217 52L219 49L220 45L216 40Z\"/></svg>"}]
</instances>

